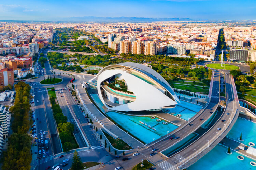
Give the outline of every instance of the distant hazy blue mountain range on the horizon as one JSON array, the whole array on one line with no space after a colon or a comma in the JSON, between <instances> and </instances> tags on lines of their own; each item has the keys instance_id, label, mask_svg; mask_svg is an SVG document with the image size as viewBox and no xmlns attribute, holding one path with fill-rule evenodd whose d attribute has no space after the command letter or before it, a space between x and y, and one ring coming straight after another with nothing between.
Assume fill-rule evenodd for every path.
<instances>
[{"instance_id":1,"label":"distant hazy blue mountain range on the horizon","mask_svg":"<svg viewBox=\"0 0 256 170\"><path fill-rule=\"evenodd\" d=\"M66 17L54 21L68 22L157 22L157 21L192 21L190 18L143 18L143 17Z\"/></svg>"}]
</instances>

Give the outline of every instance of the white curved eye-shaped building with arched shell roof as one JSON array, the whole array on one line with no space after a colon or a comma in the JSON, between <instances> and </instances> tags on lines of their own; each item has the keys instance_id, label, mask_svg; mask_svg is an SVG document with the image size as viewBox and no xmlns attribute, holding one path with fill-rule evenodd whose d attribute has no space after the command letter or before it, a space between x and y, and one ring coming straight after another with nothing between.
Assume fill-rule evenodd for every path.
<instances>
[{"instance_id":1,"label":"white curved eye-shaped building with arched shell roof","mask_svg":"<svg viewBox=\"0 0 256 170\"><path fill-rule=\"evenodd\" d=\"M159 111L179 101L167 81L143 64L109 65L90 81L96 79L100 100L110 110Z\"/></svg>"}]
</instances>

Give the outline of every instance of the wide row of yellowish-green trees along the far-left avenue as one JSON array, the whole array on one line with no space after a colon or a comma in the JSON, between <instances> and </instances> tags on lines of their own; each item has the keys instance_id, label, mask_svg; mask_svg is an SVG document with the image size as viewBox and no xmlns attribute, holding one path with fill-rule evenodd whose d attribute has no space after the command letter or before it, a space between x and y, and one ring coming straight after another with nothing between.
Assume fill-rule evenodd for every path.
<instances>
[{"instance_id":1,"label":"wide row of yellowish-green trees along the far-left avenue","mask_svg":"<svg viewBox=\"0 0 256 170\"><path fill-rule=\"evenodd\" d=\"M2 170L30 169L32 155L30 153L32 138L27 134L32 124L30 119L30 86L24 82L15 84L16 98L13 113L12 135L8 138L7 151L3 152Z\"/></svg>"}]
</instances>

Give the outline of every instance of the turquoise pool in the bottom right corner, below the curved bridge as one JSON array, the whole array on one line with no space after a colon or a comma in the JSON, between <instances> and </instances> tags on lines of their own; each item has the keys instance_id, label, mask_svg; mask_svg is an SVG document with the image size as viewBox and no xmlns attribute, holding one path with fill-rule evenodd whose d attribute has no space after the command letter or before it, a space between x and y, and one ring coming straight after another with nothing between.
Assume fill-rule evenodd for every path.
<instances>
[{"instance_id":1,"label":"turquoise pool in the bottom right corner, below the curved bridge","mask_svg":"<svg viewBox=\"0 0 256 170\"><path fill-rule=\"evenodd\" d=\"M253 161L243 155L244 160L239 160L237 156L240 154L232 151L231 155L226 154L228 148L217 145L209 153L204 155L199 159L195 164L188 167L188 170L251 170L255 169L254 166L250 165L250 162Z\"/></svg>"}]
</instances>

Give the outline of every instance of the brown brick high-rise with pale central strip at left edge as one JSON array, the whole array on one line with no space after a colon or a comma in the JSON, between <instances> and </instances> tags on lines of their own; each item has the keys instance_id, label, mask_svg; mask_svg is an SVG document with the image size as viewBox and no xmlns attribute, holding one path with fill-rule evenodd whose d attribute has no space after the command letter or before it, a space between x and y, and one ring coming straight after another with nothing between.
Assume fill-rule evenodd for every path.
<instances>
[{"instance_id":1,"label":"brown brick high-rise with pale central strip at left edge","mask_svg":"<svg viewBox=\"0 0 256 170\"><path fill-rule=\"evenodd\" d=\"M13 86L14 84L14 74L13 69L4 68L0 70L0 88L8 85Z\"/></svg>"}]
</instances>

